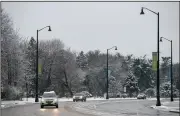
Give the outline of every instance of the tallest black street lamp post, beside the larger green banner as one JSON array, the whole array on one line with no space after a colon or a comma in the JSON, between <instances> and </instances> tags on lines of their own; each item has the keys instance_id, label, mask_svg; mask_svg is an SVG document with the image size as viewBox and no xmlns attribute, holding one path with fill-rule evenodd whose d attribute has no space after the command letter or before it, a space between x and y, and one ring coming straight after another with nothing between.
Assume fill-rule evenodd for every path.
<instances>
[{"instance_id":1,"label":"tallest black street lamp post, beside the larger green banner","mask_svg":"<svg viewBox=\"0 0 180 116\"><path fill-rule=\"evenodd\" d=\"M140 15L143 15L145 14L144 13L144 9L156 14L158 16L158 20L157 20L157 54L158 54L158 61L157 61L157 103L156 103L156 106L161 106L161 102L160 102L160 94L159 94L159 83L160 83L160 79L159 79L159 12L156 13L148 8L145 8L145 7L142 7L141 8L141 13Z\"/></svg>"}]
</instances>

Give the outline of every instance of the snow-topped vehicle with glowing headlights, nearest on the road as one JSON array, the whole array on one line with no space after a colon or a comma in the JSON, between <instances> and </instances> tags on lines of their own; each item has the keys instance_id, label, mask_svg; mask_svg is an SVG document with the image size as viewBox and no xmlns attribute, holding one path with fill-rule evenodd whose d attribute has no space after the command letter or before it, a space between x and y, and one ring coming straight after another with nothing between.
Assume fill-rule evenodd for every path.
<instances>
[{"instance_id":1,"label":"snow-topped vehicle with glowing headlights, nearest on the road","mask_svg":"<svg viewBox=\"0 0 180 116\"><path fill-rule=\"evenodd\" d=\"M44 92L41 96L41 108L44 106L56 106L58 108L58 97L54 91Z\"/></svg>"}]
</instances>

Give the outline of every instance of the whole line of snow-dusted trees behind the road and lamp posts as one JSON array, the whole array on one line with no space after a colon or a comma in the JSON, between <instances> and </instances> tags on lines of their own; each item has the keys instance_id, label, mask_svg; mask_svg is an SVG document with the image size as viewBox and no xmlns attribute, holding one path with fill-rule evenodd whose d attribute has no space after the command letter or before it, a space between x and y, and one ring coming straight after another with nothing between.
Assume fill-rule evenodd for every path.
<instances>
[{"instance_id":1,"label":"whole line of snow-dusted trees behind the road and lamp posts","mask_svg":"<svg viewBox=\"0 0 180 116\"><path fill-rule=\"evenodd\" d=\"M13 29L13 21L1 10L1 84L3 99L19 99L35 96L36 39L20 37ZM65 49L58 38L39 42L39 94L54 90L59 97L88 91L93 96L106 93L107 54L99 50L87 53ZM162 57L160 64L161 96L170 95L170 58ZM133 54L109 55L109 94L118 93L136 96L146 92L155 96L156 72L152 70L152 59ZM173 64L174 93L178 95L179 63ZM24 94L26 93L26 94Z\"/></svg>"}]
</instances>

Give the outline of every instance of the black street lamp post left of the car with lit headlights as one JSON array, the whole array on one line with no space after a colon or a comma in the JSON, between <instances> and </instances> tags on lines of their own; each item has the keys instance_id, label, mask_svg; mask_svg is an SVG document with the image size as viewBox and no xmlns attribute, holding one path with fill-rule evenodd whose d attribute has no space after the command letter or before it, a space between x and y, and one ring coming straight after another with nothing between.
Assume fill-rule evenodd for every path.
<instances>
[{"instance_id":1,"label":"black street lamp post left of the car with lit headlights","mask_svg":"<svg viewBox=\"0 0 180 116\"><path fill-rule=\"evenodd\" d=\"M38 99L38 32L40 32L41 30L45 29L45 28L49 28L48 31L51 31L51 27L50 26L46 26L40 30L37 30L37 44L36 44L36 98L35 98L35 102L39 102Z\"/></svg>"}]
</instances>

